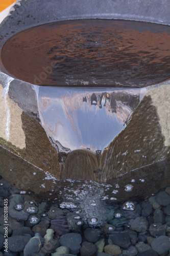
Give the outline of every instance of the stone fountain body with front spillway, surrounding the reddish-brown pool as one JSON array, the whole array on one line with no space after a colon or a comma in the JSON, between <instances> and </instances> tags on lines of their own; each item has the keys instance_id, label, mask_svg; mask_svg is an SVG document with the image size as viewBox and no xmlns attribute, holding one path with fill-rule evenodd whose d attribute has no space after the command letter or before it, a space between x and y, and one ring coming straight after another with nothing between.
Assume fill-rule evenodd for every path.
<instances>
[{"instance_id":1,"label":"stone fountain body with front spillway, surrounding the reddish-brown pool","mask_svg":"<svg viewBox=\"0 0 170 256\"><path fill-rule=\"evenodd\" d=\"M17 33L43 24L123 19L169 26L169 11L167 1L157 0L21 0L1 14L0 49ZM44 69L28 82L0 64L0 169L11 185L54 198L51 191L70 179L119 183L117 200L168 185L170 80L163 73L156 83L138 87L85 80L55 87L41 84Z\"/></svg>"}]
</instances>

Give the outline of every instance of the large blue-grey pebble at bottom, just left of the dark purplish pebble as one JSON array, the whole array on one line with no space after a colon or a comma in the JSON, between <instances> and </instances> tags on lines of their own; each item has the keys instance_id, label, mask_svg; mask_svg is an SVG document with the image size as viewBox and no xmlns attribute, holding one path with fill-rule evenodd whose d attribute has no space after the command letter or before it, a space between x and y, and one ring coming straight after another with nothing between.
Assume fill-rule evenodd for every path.
<instances>
[{"instance_id":1,"label":"large blue-grey pebble at bottom, just left of the dark purplish pebble","mask_svg":"<svg viewBox=\"0 0 170 256\"><path fill-rule=\"evenodd\" d=\"M77 254L81 248L82 237L78 233L67 233L61 236L59 243L70 249L70 253Z\"/></svg>"}]
</instances>

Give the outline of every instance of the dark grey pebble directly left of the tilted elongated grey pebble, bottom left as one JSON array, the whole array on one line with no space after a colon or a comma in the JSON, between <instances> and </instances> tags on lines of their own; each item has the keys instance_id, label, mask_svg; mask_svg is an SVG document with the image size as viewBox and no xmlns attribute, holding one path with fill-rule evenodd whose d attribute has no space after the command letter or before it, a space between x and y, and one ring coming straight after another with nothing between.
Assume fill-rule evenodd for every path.
<instances>
[{"instance_id":1,"label":"dark grey pebble directly left of the tilted elongated grey pebble, bottom left","mask_svg":"<svg viewBox=\"0 0 170 256\"><path fill-rule=\"evenodd\" d=\"M27 234L27 236L13 236L8 238L8 248L10 251L13 252L20 252L23 251L26 244L30 240L31 235Z\"/></svg>"}]
</instances>

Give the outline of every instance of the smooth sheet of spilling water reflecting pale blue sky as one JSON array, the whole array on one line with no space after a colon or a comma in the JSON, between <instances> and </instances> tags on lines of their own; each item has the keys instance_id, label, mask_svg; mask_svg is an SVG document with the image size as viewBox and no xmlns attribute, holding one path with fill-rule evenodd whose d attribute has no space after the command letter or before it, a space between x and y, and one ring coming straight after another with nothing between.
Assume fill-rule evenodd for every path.
<instances>
[{"instance_id":1,"label":"smooth sheet of spilling water reflecting pale blue sky","mask_svg":"<svg viewBox=\"0 0 170 256\"><path fill-rule=\"evenodd\" d=\"M61 151L85 149L100 154L124 129L140 95L141 89L94 92L40 87L40 119Z\"/></svg>"}]
</instances>

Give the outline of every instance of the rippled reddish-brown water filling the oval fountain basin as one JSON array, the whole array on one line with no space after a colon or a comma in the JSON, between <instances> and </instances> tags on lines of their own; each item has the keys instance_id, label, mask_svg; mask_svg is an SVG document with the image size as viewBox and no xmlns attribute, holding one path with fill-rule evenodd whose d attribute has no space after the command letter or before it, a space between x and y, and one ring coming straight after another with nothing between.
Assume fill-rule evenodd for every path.
<instances>
[{"instance_id":1,"label":"rippled reddish-brown water filling the oval fountain basin","mask_svg":"<svg viewBox=\"0 0 170 256\"><path fill-rule=\"evenodd\" d=\"M169 79L169 41L169 26L70 20L14 35L1 60L12 76L41 86L144 87Z\"/></svg>"}]
</instances>

